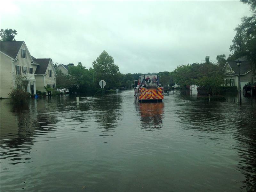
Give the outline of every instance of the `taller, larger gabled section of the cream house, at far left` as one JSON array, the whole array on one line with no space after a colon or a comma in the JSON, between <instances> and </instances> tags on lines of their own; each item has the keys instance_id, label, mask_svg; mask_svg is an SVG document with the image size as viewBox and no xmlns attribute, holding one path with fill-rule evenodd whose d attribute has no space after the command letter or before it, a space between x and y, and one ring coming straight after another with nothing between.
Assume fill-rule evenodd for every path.
<instances>
[{"instance_id":1,"label":"taller, larger gabled section of the cream house, at far left","mask_svg":"<svg viewBox=\"0 0 256 192\"><path fill-rule=\"evenodd\" d=\"M35 71L38 66L24 41L0 42L0 97L9 97L11 89L36 93Z\"/></svg>"}]
</instances>

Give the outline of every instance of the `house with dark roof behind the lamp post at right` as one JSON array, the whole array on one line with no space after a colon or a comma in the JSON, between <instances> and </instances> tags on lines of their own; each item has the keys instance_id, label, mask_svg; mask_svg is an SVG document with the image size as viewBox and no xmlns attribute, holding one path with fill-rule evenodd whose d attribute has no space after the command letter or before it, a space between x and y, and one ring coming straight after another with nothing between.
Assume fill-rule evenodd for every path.
<instances>
[{"instance_id":1,"label":"house with dark roof behind the lamp post at right","mask_svg":"<svg viewBox=\"0 0 256 192\"><path fill-rule=\"evenodd\" d=\"M241 80L241 89L243 86L249 82L255 82L255 75L251 67L250 61L246 60L244 57L239 58L235 61L227 61L224 68L222 69L224 73L224 86L237 86L238 85L238 66L237 61L241 62L240 65L240 80Z\"/></svg>"}]
</instances>

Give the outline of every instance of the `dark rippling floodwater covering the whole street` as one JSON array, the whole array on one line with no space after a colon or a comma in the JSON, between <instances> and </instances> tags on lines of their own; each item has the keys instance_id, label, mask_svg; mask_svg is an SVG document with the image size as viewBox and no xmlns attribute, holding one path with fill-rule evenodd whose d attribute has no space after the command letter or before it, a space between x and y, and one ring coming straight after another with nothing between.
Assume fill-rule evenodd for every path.
<instances>
[{"instance_id":1,"label":"dark rippling floodwater covering the whole street","mask_svg":"<svg viewBox=\"0 0 256 192\"><path fill-rule=\"evenodd\" d=\"M1 100L1 191L255 191L256 99Z\"/></svg>"}]
</instances>

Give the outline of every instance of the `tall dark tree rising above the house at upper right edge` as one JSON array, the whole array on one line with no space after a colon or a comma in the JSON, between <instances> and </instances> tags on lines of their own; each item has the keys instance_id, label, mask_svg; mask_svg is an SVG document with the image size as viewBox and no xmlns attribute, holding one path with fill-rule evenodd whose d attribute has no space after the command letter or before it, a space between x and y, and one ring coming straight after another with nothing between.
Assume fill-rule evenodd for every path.
<instances>
[{"instance_id":1,"label":"tall dark tree rising above the house at upper right edge","mask_svg":"<svg viewBox=\"0 0 256 192\"><path fill-rule=\"evenodd\" d=\"M237 58L245 56L256 67L256 1L242 0L250 5L252 16L242 18L242 23L235 28L236 36L229 50Z\"/></svg>"}]
</instances>

